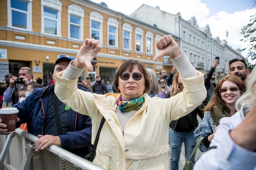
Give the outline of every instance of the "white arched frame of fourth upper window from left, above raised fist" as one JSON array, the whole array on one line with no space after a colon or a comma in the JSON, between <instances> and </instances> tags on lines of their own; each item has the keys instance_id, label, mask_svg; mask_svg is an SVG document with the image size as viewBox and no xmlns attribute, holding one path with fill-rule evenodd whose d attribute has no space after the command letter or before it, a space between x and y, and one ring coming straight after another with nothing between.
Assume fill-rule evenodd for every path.
<instances>
[{"instance_id":1,"label":"white arched frame of fourth upper window from left, above raised fist","mask_svg":"<svg viewBox=\"0 0 256 170\"><path fill-rule=\"evenodd\" d=\"M90 38L92 38L92 30L96 30L92 28L92 21L100 23L100 30L99 30L99 42L103 44L102 40L102 23L104 17L99 12L90 12Z\"/></svg>"}]
</instances>

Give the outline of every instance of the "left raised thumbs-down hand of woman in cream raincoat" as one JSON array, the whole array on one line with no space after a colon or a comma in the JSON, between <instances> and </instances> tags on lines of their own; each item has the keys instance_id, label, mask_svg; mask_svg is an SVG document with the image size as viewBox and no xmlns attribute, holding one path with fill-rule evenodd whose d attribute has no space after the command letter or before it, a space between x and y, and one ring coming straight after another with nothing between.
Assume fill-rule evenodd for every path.
<instances>
[{"instance_id":1,"label":"left raised thumbs-down hand of woman in cream raincoat","mask_svg":"<svg viewBox=\"0 0 256 170\"><path fill-rule=\"evenodd\" d=\"M72 66L84 68L86 66L90 72L93 71L91 60L101 51L102 46L99 45L99 40L85 39L77 53L77 59L72 63Z\"/></svg>"}]
</instances>

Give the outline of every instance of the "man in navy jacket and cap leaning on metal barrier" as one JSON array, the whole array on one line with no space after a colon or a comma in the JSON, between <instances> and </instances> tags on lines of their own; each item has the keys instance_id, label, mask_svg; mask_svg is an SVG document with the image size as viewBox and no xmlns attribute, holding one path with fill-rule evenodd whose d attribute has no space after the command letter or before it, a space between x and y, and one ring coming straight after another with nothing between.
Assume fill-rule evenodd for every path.
<instances>
[{"instance_id":1,"label":"man in navy jacket and cap leaning on metal barrier","mask_svg":"<svg viewBox=\"0 0 256 170\"><path fill-rule=\"evenodd\" d=\"M54 74L65 70L70 61L69 57L57 59ZM54 76L53 80L55 82ZM78 89L92 93L90 89L80 84L78 84ZM59 135L54 115L53 92L54 84L36 88L23 102L14 105L19 110L18 118L20 119L16 128L22 123L27 123L28 132L38 136L35 143L36 152L54 144L77 155L87 155L91 152L92 122L90 117L73 111L58 99L63 132L63 135ZM0 132L4 132L5 129L1 122L0 119Z\"/></svg>"}]
</instances>

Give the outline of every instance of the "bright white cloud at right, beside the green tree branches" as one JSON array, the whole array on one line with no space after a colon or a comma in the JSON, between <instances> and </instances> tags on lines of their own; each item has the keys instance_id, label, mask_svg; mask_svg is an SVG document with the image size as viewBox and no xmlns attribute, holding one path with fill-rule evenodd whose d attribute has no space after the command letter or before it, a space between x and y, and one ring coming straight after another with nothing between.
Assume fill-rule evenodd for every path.
<instances>
[{"instance_id":1,"label":"bright white cloud at right, beside the green tree branches","mask_svg":"<svg viewBox=\"0 0 256 170\"><path fill-rule=\"evenodd\" d=\"M249 23L250 16L255 13L255 9L237 11L233 14L221 11L205 20L197 20L197 24L199 27L205 27L206 24L209 24L212 36L219 36L221 40L226 39L226 31L228 31L228 45L232 46L234 49L243 49L249 43L240 41L240 39L243 38L243 35L240 34L241 28ZM247 52L248 51L242 52L242 55L247 56Z\"/></svg>"}]
</instances>

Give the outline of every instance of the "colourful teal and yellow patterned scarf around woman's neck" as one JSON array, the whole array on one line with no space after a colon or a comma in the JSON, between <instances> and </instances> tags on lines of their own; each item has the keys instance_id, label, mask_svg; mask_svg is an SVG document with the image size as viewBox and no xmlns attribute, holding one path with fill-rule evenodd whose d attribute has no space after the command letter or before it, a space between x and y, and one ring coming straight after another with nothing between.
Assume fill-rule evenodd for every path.
<instances>
[{"instance_id":1,"label":"colourful teal and yellow patterned scarf around woman's neck","mask_svg":"<svg viewBox=\"0 0 256 170\"><path fill-rule=\"evenodd\" d=\"M123 112L129 112L132 110L139 110L144 102L144 94L133 100L122 100L121 95L117 99L117 105L119 110Z\"/></svg>"}]
</instances>

